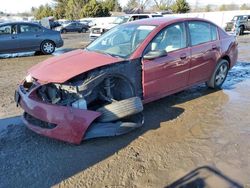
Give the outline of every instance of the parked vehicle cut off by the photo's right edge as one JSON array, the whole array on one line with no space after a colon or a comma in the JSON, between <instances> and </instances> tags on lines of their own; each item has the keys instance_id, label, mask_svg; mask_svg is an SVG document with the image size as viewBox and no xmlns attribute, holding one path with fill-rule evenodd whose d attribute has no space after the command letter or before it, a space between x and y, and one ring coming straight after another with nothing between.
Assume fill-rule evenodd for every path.
<instances>
[{"instance_id":1,"label":"parked vehicle cut off by the photo's right edge","mask_svg":"<svg viewBox=\"0 0 250 188\"><path fill-rule=\"evenodd\" d=\"M234 16L230 22L226 23L225 30L235 32L237 35L243 35L244 31L250 31L250 15Z\"/></svg>"}]
</instances>

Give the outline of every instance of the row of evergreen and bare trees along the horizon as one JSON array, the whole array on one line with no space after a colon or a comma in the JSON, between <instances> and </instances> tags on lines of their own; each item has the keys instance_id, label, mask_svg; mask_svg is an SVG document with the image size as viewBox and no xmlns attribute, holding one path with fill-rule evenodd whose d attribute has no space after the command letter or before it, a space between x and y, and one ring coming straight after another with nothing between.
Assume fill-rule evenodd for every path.
<instances>
[{"instance_id":1,"label":"row of evergreen and bare trees along the horizon","mask_svg":"<svg viewBox=\"0 0 250 188\"><path fill-rule=\"evenodd\" d=\"M170 10L173 13L186 13L190 5L186 0L129 0L125 7L121 7L118 0L54 0L52 5L32 7L31 12L37 20L53 16L55 19L77 20L84 17L105 17L110 12L140 9L144 11L151 7L153 10Z\"/></svg>"}]
</instances>

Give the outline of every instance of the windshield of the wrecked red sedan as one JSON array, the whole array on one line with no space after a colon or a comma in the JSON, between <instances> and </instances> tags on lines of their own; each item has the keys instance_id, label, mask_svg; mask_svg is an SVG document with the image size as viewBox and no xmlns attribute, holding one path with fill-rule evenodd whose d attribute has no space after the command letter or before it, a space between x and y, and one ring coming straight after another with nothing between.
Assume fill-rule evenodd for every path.
<instances>
[{"instance_id":1,"label":"windshield of the wrecked red sedan","mask_svg":"<svg viewBox=\"0 0 250 188\"><path fill-rule=\"evenodd\" d=\"M154 28L151 25L119 25L98 37L86 49L127 58Z\"/></svg>"}]
</instances>

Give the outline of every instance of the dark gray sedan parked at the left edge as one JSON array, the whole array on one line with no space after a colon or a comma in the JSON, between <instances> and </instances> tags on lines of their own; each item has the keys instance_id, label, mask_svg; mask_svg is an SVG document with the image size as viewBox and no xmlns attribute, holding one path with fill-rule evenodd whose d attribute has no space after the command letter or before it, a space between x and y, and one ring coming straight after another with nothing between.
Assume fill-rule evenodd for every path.
<instances>
[{"instance_id":1,"label":"dark gray sedan parked at the left edge","mask_svg":"<svg viewBox=\"0 0 250 188\"><path fill-rule=\"evenodd\" d=\"M38 51L51 54L55 48L63 46L58 31L27 22L11 22L0 24L0 54Z\"/></svg>"}]
</instances>

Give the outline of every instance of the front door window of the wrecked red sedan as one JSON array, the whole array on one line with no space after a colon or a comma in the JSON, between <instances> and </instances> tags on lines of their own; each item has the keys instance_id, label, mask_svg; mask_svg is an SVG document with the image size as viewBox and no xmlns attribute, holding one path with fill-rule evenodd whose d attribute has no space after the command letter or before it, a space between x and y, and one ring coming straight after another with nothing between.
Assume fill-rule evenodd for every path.
<instances>
[{"instance_id":1,"label":"front door window of the wrecked red sedan","mask_svg":"<svg viewBox=\"0 0 250 188\"><path fill-rule=\"evenodd\" d=\"M187 47L184 23L170 25L160 31L149 44L149 51L172 52Z\"/></svg>"}]
</instances>

